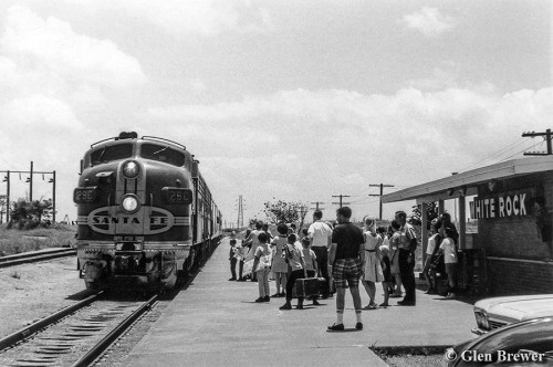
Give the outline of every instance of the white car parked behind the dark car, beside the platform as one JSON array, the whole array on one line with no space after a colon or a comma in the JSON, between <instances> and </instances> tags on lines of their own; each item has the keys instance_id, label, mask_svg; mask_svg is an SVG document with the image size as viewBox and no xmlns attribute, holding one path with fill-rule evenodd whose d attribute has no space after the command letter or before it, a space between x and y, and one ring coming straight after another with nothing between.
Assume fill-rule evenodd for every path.
<instances>
[{"instance_id":1,"label":"white car parked behind the dark car, beside the platform","mask_svg":"<svg viewBox=\"0 0 553 367\"><path fill-rule=\"evenodd\" d=\"M474 304L477 326L472 333L486 334L520 321L553 316L553 294L492 297Z\"/></svg>"}]
</instances>

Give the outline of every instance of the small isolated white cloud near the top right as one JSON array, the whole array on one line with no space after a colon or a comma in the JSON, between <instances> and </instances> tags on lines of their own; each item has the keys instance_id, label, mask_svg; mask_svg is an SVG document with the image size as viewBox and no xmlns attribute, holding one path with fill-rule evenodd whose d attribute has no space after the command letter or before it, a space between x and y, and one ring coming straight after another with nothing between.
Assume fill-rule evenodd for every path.
<instances>
[{"instance_id":1,"label":"small isolated white cloud near the top right","mask_svg":"<svg viewBox=\"0 0 553 367\"><path fill-rule=\"evenodd\" d=\"M409 28L419 31L426 36L437 36L455 27L451 17L444 15L436 8L422 8L411 14L404 15L400 22Z\"/></svg>"}]
</instances>

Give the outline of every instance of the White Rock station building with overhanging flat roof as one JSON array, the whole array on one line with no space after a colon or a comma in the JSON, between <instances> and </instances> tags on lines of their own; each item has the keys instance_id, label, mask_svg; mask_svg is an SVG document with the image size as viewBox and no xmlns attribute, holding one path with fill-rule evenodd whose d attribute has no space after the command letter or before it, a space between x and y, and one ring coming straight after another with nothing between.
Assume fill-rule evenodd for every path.
<instances>
[{"instance_id":1,"label":"White Rock station building with overhanging flat roof","mask_svg":"<svg viewBox=\"0 0 553 367\"><path fill-rule=\"evenodd\" d=\"M444 212L447 200L457 200L458 218L478 221L478 233L467 233L466 220L458 228L461 256L479 254L461 264L468 287L495 295L553 293L553 156L503 161L382 197L384 203L405 200L421 205L422 223L428 203L438 202ZM427 239L426 226L421 231Z\"/></svg>"}]
</instances>

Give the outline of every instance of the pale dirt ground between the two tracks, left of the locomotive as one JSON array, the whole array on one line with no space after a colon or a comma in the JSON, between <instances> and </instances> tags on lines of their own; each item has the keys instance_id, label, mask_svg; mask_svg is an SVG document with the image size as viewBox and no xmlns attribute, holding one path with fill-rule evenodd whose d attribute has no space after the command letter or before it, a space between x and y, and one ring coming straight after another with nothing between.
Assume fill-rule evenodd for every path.
<instances>
[{"instance_id":1,"label":"pale dirt ground between the two tracks, left of the locomotive","mask_svg":"<svg viewBox=\"0 0 553 367\"><path fill-rule=\"evenodd\" d=\"M76 258L0 269L0 338L88 295Z\"/></svg>"}]
</instances>

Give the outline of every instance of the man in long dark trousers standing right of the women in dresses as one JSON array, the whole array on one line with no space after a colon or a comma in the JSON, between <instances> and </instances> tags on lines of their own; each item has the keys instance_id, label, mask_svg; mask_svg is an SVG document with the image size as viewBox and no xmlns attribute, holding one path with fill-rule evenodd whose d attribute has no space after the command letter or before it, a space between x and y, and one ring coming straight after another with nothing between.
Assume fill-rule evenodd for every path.
<instances>
[{"instance_id":1,"label":"man in long dark trousers standing right of the women in dresses","mask_svg":"<svg viewBox=\"0 0 553 367\"><path fill-rule=\"evenodd\" d=\"M417 249L417 235L411 224L407 223L405 211L396 211L396 221L399 228L399 273L405 287L405 297L397 304L399 306L415 306L415 250Z\"/></svg>"}]
</instances>

